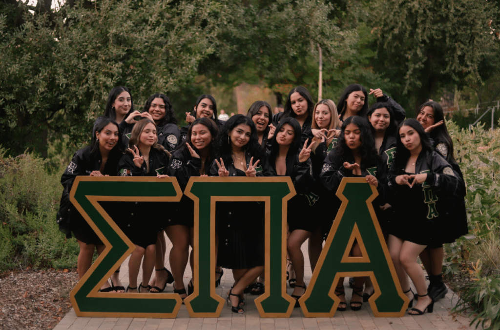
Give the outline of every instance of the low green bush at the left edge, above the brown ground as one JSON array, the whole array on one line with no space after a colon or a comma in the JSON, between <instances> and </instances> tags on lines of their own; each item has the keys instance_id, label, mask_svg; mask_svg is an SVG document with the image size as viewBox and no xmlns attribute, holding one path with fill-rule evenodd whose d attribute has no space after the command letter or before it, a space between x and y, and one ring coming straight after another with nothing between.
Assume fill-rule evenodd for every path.
<instances>
[{"instance_id":1,"label":"low green bush at the left edge, above the brown ground","mask_svg":"<svg viewBox=\"0 0 500 330\"><path fill-rule=\"evenodd\" d=\"M58 231L60 172L31 154L15 158L0 148L0 270L17 265L72 268L78 245Z\"/></svg>"}]
</instances>

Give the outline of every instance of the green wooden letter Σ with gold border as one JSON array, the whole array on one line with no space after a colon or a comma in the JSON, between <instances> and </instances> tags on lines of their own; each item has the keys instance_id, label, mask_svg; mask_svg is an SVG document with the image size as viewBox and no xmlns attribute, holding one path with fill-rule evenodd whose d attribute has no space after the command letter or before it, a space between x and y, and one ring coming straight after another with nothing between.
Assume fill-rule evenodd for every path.
<instances>
[{"instance_id":1,"label":"green wooden letter \u03a3 with gold border","mask_svg":"<svg viewBox=\"0 0 500 330\"><path fill-rule=\"evenodd\" d=\"M177 315L182 303L177 294L97 293L135 249L98 202L178 202L181 196L175 178L76 177L70 192L71 203L106 246L71 291L71 303L77 316L174 318Z\"/></svg>"}]
</instances>

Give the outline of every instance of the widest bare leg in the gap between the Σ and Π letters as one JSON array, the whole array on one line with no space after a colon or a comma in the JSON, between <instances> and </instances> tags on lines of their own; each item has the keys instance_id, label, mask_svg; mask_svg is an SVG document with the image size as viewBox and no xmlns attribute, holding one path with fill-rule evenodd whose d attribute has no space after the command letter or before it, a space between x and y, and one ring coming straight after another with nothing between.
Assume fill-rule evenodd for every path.
<instances>
[{"instance_id":1,"label":"widest bare leg in the gap between the \u03a3 and \u03a0 letters","mask_svg":"<svg viewBox=\"0 0 500 330\"><path fill-rule=\"evenodd\" d=\"M183 225L168 226L165 229L166 236L172 242L172 249L170 250L170 269L172 270L174 288L175 290L184 289L184 270L187 265L189 257L189 228ZM165 273L165 272L161 272ZM166 275L166 274L164 274ZM166 279L164 280L166 281ZM157 286L163 288L166 282L162 282ZM159 284L159 283L158 283ZM187 297L187 294L180 295L181 299Z\"/></svg>"}]
</instances>

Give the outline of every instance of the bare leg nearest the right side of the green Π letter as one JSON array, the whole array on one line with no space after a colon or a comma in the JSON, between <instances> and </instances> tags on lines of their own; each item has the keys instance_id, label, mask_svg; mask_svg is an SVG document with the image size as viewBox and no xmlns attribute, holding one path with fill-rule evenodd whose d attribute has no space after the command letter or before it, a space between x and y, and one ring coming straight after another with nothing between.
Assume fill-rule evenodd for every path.
<instances>
[{"instance_id":1,"label":"bare leg nearest the right side of the green \u03a0 letter","mask_svg":"<svg viewBox=\"0 0 500 330\"><path fill-rule=\"evenodd\" d=\"M301 296L304 293L304 288L302 288L304 285L304 255L300 247L310 235L311 233L308 231L296 229L290 233L286 241L286 250L290 255L296 276L295 288L292 293L295 296Z\"/></svg>"}]
</instances>

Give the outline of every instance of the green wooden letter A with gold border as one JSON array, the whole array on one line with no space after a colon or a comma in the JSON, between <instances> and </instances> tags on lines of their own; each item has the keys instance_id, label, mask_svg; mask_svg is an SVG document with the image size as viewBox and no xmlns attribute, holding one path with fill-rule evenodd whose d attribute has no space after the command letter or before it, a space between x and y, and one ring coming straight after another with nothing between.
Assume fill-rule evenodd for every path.
<instances>
[{"instance_id":1,"label":"green wooden letter A with gold border","mask_svg":"<svg viewBox=\"0 0 500 330\"><path fill-rule=\"evenodd\" d=\"M340 277L369 276L375 294L369 304L375 317L402 317L409 300L403 294L371 202L378 195L365 178L343 178L336 195L342 205L333 221L309 287L299 299L305 317L331 318L340 299ZM349 257L354 239L361 257ZM267 288L266 288L267 289Z\"/></svg>"}]
</instances>

